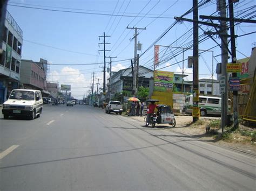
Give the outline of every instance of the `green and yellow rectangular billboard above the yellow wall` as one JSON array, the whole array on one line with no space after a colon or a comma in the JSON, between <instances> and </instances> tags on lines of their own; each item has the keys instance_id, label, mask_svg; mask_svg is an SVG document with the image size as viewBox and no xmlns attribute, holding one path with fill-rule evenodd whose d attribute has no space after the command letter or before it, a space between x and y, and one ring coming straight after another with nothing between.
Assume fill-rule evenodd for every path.
<instances>
[{"instance_id":1,"label":"green and yellow rectangular billboard above the yellow wall","mask_svg":"<svg viewBox=\"0 0 256 191\"><path fill-rule=\"evenodd\" d=\"M173 72L154 71L154 91L170 91L173 87Z\"/></svg>"}]
</instances>

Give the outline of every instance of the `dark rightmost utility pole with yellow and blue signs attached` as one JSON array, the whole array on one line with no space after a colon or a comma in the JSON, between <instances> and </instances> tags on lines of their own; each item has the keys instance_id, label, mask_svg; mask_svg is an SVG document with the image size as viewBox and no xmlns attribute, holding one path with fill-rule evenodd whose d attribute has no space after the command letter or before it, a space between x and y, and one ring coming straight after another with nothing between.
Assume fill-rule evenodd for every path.
<instances>
[{"instance_id":1,"label":"dark rightmost utility pole with yellow and blue signs attached","mask_svg":"<svg viewBox=\"0 0 256 191\"><path fill-rule=\"evenodd\" d=\"M228 8L230 10L230 35L231 35L231 58L232 63L237 63L237 55L235 53L235 32L234 32L234 10L233 0L228 0ZM232 77L237 77L237 73L232 73ZM233 114L234 129L238 128L238 91L233 91Z\"/></svg>"}]
</instances>

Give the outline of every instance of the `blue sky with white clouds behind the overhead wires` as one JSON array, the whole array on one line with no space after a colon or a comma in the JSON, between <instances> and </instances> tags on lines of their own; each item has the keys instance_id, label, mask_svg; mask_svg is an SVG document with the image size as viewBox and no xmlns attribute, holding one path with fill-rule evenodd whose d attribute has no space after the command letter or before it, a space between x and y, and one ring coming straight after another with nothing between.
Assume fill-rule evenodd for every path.
<instances>
[{"instance_id":1,"label":"blue sky with white clouds behind the overhead wires","mask_svg":"<svg viewBox=\"0 0 256 191\"><path fill-rule=\"evenodd\" d=\"M205 0L203 0L203 2L204 1ZM214 13L214 16L218 16L215 3L216 0L211 0L209 3L202 6L199 9L199 15L211 15ZM56 12L8 6L8 11L23 30L24 41L22 58L34 61L38 61L40 58L43 58L53 64L69 64L68 66L51 65L48 80L58 81L59 85L71 84L71 87L73 87L71 89L72 95L77 98L82 98L84 94L87 94L87 90L91 86L91 77L93 72L95 72L95 76L100 79L99 86L103 86L103 69L101 68L103 64L97 64L104 61L103 52L98 54L98 50L103 49L103 46L98 47L98 43L103 43L103 38L100 38L99 40L98 36L102 36L103 32L105 32L106 35L111 36L110 38L106 38L106 41L111 43L106 45L106 49L111 50L110 52L107 52L106 55L117 56L116 59L113 59L113 61L117 61L113 62L113 70L117 71L119 69L130 67L130 60L119 61L131 59L134 54L134 41L129 40L133 37L134 31L126 29L126 26L129 25L130 27L136 26L140 28L146 27L146 30L139 31L138 36L138 40L143 44L142 51L138 51L138 53L142 54L169 26L175 22L173 19L174 16L179 17L191 9L192 0L10 0L9 4L33 6L36 8L52 10L109 15L114 13L114 15L134 16L111 17L106 15ZM255 5L254 0L240 0L239 3L234 5L234 16L237 18L241 18L242 16L245 16L245 18L250 17L246 16L246 13L250 13L252 10L246 10L246 8L253 5ZM143 17L145 15L146 17L168 18L146 18ZM192 19L192 13L186 15L185 18ZM255 19L255 15L252 19ZM202 26L202 28L204 30L213 30L212 27L207 26ZM192 41L192 33L188 32L190 29L192 29L192 23L183 22L176 24L163 38L161 38L161 40L158 41L157 44L164 46L172 44L172 46L177 47L190 47L190 42ZM253 31L256 31L255 24L244 23L235 26L235 33L238 36ZM202 33L203 31L199 30L199 34ZM218 37L214 38L220 43L220 39ZM250 56L252 44L255 43L255 41L255 33L237 38L236 46L239 51L237 52L237 58L240 59L245 58L245 56ZM42 45L56 47L59 49ZM199 49L209 49L215 45L217 44L215 44L213 40L207 39L203 43L199 44ZM60 49L65 49L67 51ZM169 48L165 50L164 47L160 47L160 51L163 51L160 54L160 59L164 52L165 54L162 57L163 60L167 58L166 55L172 56L172 54L176 54L178 50L179 49L177 48ZM211 51L213 51L214 55L220 54L219 47L215 47L211 49ZM185 58L189 55L192 55L192 51L185 52ZM166 59L166 62L161 63L158 68L160 69L176 62L180 62L182 60L182 56L182 53L179 52L175 58ZM149 51L144 53L140 58L140 65L152 69L152 58L153 48L150 48ZM109 62L109 59L106 59L106 61ZM215 57L213 61L214 70L216 63L220 61L220 56ZM83 66L74 65L78 63L95 64ZM184 62L184 65L185 67L187 66L186 61ZM211 77L211 65L212 52L201 54L199 59L199 74L207 75L199 75L199 78ZM181 72L180 67L182 67L182 62L179 63L179 66L176 64L162 70ZM187 78L187 80L190 80L190 73L192 73L192 70L186 68L185 72L190 75Z\"/></svg>"}]
</instances>

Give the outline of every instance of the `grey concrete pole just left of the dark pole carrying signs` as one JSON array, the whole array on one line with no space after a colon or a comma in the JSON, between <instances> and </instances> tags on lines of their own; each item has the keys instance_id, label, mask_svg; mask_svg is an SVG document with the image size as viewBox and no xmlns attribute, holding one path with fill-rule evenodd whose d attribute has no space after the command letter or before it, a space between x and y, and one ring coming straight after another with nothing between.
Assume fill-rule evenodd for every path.
<instances>
[{"instance_id":1,"label":"grey concrete pole just left of the dark pole carrying signs","mask_svg":"<svg viewBox=\"0 0 256 191\"><path fill-rule=\"evenodd\" d=\"M220 0L220 17L226 18L226 0ZM221 75L225 76L225 92L221 94L221 131L224 132L224 127L227 125L227 110L228 110L228 87L227 87L227 22L220 21L220 38L221 38Z\"/></svg>"}]
</instances>

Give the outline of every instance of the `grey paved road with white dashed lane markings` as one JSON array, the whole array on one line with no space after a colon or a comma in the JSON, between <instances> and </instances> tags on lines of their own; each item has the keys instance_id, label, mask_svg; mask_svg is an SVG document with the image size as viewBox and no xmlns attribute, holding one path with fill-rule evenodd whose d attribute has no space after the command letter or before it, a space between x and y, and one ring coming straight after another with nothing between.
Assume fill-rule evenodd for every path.
<instances>
[{"instance_id":1,"label":"grey paved road with white dashed lane markings","mask_svg":"<svg viewBox=\"0 0 256 191\"><path fill-rule=\"evenodd\" d=\"M0 115L0 190L255 189L252 155L142 125L88 105Z\"/></svg>"}]
</instances>

